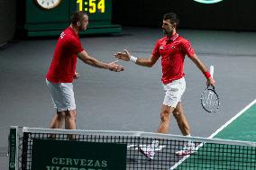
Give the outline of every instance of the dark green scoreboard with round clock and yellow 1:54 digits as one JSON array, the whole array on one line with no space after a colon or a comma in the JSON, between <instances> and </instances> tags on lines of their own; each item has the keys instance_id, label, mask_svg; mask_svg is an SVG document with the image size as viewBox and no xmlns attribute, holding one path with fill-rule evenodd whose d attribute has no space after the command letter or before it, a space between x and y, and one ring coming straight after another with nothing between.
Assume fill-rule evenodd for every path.
<instances>
[{"instance_id":1,"label":"dark green scoreboard with round clock and yellow 1:54 digits","mask_svg":"<svg viewBox=\"0 0 256 170\"><path fill-rule=\"evenodd\" d=\"M25 36L59 35L75 11L86 12L89 17L87 31L81 34L121 31L121 25L112 23L112 0L25 0L17 1L17 5L18 29Z\"/></svg>"}]
</instances>

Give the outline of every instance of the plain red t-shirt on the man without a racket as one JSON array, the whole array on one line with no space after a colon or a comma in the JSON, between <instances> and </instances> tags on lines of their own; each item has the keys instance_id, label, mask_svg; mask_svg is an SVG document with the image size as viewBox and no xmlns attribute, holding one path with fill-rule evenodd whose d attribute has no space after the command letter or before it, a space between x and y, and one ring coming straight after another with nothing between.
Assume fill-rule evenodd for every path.
<instances>
[{"instance_id":1,"label":"plain red t-shirt on the man without a racket","mask_svg":"<svg viewBox=\"0 0 256 170\"><path fill-rule=\"evenodd\" d=\"M62 31L46 78L53 83L72 83L77 55L83 50L78 35L71 27Z\"/></svg>"}]
</instances>

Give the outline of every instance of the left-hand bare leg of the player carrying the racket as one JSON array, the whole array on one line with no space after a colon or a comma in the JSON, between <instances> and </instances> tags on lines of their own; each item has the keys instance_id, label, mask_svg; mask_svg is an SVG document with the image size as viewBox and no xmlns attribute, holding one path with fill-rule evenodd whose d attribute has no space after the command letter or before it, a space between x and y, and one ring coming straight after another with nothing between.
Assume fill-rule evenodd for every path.
<instances>
[{"instance_id":1,"label":"left-hand bare leg of the player carrying the racket","mask_svg":"<svg viewBox=\"0 0 256 170\"><path fill-rule=\"evenodd\" d=\"M159 133L167 133L169 131L170 115L173 110L173 107L162 104L160 111L160 126L158 130Z\"/></svg>"}]
</instances>

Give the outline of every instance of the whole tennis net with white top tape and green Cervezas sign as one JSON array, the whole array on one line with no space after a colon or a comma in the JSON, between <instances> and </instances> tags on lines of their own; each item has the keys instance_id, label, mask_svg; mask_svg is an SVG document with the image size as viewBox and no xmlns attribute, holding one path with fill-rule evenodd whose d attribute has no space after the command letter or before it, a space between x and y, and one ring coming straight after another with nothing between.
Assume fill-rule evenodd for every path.
<instances>
[{"instance_id":1,"label":"whole tennis net with white top tape and green Cervezas sign","mask_svg":"<svg viewBox=\"0 0 256 170\"><path fill-rule=\"evenodd\" d=\"M9 169L256 169L254 142L140 131L11 130L16 131L10 131ZM43 165L42 160L48 163ZM40 162L39 166L34 162Z\"/></svg>"}]
</instances>

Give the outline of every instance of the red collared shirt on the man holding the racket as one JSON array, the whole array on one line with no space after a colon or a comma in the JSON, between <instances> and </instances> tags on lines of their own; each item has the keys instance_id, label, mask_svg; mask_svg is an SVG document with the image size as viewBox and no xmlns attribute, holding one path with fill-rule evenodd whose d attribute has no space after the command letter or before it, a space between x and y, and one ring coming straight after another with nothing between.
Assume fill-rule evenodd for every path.
<instances>
[{"instance_id":1,"label":"red collared shirt on the man holding the racket","mask_svg":"<svg viewBox=\"0 0 256 170\"><path fill-rule=\"evenodd\" d=\"M178 80L185 76L184 58L189 58L195 54L194 49L188 40L176 33L171 38L164 37L157 41L153 51L153 58L160 58L162 66L161 81L169 84L173 80Z\"/></svg>"}]
</instances>

